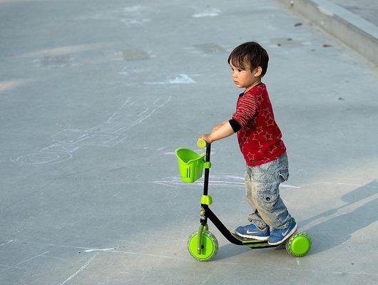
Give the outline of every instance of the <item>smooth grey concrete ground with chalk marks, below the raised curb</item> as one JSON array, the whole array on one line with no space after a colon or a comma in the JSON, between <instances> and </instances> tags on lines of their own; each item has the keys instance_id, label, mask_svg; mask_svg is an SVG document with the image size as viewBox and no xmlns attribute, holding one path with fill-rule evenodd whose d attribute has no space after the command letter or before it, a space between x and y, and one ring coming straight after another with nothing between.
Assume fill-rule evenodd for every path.
<instances>
[{"instance_id":1,"label":"smooth grey concrete ground with chalk marks, below the raised curb","mask_svg":"<svg viewBox=\"0 0 378 285\"><path fill-rule=\"evenodd\" d=\"M201 182L177 147L230 118L228 54L267 48L306 257L229 244L195 261ZM0 284L377 284L378 73L276 1L0 1ZM235 136L213 211L246 224Z\"/></svg>"}]
</instances>

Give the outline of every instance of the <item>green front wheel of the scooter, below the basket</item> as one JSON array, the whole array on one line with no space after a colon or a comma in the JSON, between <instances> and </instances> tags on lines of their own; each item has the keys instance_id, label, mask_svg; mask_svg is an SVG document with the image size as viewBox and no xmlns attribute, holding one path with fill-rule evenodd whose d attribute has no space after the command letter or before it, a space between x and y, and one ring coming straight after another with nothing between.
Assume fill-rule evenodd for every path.
<instances>
[{"instance_id":1,"label":"green front wheel of the scooter, below the basket","mask_svg":"<svg viewBox=\"0 0 378 285\"><path fill-rule=\"evenodd\" d=\"M198 253L198 232L193 232L188 239L188 250L192 257L198 261L209 261L215 257L218 252L218 240L211 232L203 231L201 244L202 248Z\"/></svg>"}]
</instances>

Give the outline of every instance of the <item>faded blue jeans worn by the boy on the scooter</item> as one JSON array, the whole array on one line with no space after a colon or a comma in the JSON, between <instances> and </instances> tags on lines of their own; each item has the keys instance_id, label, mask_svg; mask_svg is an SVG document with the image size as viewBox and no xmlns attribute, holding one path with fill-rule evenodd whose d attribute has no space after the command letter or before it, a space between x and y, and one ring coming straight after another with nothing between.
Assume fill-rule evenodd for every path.
<instances>
[{"instance_id":1,"label":"faded blue jeans worn by the boy on the scooter","mask_svg":"<svg viewBox=\"0 0 378 285\"><path fill-rule=\"evenodd\" d=\"M257 227L285 229L291 216L280 197L279 186L289 178L286 152L263 165L248 166L245 170L245 197L252 207L248 220Z\"/></svg>"}]
</instances>

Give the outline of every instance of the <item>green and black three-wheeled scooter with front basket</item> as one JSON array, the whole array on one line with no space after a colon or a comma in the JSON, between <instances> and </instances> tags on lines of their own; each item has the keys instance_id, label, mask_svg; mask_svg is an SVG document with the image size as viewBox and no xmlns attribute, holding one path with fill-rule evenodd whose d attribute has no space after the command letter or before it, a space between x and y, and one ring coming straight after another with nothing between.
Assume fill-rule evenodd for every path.
<instances>
[{"instance_id":1,"label":"green and black three-wheeled scooter with front basket","mask_svg":"<svg viewBox=\"0 0 378 285\"><path fill-rule=\"evenodd\" d=\"M178 168L183 182L193 183L200 179L205 169L205 181L203 185L203 196L201 197L200 227L198 232L194 232L188 239L188 250L190 254L199 261L209 261L218 252L218 240L209 232L208 219L219 229L229 242L237 245L245 245L250 249L262 249L267 247L279 247L280 245L270 245L255 239L245 239L230 232L225 225L220 222L217 216L210 210L213 199L208 195L210 148L205 140L198 140L198 147L206 147L206 152L198 155L197 152L188 148L178 148L175 155L178 158ZM296 231L285 241L285 247L293 257L303 257L310 250L311 239L305 232Z\"/></svg>"}]
</instances>

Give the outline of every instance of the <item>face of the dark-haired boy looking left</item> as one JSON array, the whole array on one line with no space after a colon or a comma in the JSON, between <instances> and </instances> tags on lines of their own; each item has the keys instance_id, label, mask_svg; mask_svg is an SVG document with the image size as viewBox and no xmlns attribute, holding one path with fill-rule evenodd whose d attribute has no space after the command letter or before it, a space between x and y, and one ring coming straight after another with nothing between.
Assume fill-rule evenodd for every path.
<instances>
[{"instance_id":1,"label":"face of the dark-haired boy looking left","mask_svg":"<svg viewBox=\"0 0 378 285\"><path fill-rule=\"evenodd\" d=\"M250 66L246 66L246 69L233 66L230 63L231 68L231 78L233 79L235 86L239 88L245 88L245 91L250 90L256 83L260 83L261 69L260 66L255 68L253 71L250 70Z\"/></svg>"}]
</instances>

